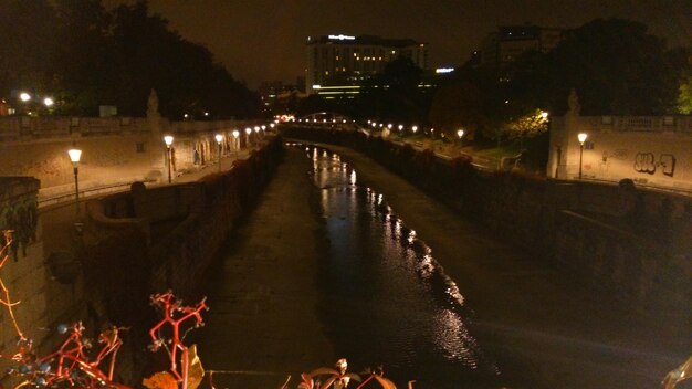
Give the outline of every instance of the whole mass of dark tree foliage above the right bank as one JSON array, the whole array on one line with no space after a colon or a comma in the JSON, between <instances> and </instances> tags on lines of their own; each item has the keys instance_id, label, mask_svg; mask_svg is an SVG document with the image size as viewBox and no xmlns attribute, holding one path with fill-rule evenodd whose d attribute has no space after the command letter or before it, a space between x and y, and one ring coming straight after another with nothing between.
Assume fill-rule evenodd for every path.
<instances>
[{"instance_id":1,"label":"whole mass of dark tree foliage above the right bank","mask_svg":"<svg viewBox=\"0 0 692 389\"><path fill-rule=\"evenodd\" d=\"M565 31L551 52L528 51L499 67L466 64L438 90L430 120L481 139L524 138L534 134L526 128L537 109L566 113L573 88L581 115L686 113L689 57L689 50L667 50L642 23L597 19Z\"/></svg>"}]
</instances>

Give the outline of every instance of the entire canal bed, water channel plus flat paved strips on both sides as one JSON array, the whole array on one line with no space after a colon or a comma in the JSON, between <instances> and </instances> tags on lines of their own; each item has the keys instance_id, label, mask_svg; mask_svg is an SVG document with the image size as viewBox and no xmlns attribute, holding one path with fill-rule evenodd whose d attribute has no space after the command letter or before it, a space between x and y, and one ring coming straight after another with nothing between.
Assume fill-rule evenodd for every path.
<instances>
[{"instance_id":1,"label":"entire canal bed, water channel plus flat paved strips on both sides","mask_svg":"<svg viewBox=\"0 0 692 389\"><path fill-rule=\"evenodd\" d=\"M643 389L682 359L665 323L329 149L346 158L286 147L206 282L195 337L216 388L295 388L347 358L398 388Z\"/></svg>"}]
</instances>

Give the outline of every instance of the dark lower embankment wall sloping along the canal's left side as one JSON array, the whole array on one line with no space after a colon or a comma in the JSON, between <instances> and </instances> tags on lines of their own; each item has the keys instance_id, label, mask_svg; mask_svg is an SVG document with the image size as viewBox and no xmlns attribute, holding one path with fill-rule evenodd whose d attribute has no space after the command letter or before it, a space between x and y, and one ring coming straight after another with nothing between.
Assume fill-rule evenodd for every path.
<instances>
[{"instance_id":1,"label":"dark lower embankment wall sloping along the canal's left side","mask_svg":"<svg viewBox=\"0 0 692 389\"><path fill-rule=\"evenodd\" d=\"M199 297L199 283L229 232L251 210L282 156L280 138L199 181L146 188L87 203L86 276L109 316L133 323L148 296ZM146 316L146 315L145 315ZM129 324L128 324L129 325Z\"/></svg>"}]
</instances>

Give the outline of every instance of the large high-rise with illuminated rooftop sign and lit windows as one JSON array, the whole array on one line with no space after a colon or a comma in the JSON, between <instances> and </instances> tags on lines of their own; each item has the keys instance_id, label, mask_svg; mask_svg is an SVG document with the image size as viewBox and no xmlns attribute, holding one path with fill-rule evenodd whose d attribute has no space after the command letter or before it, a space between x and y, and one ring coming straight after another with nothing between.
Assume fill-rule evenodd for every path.
<instances>
[{"instance_id":1,"label":"large high-rise with illuminated rooftop sign and lit windows","mask_svg":"<svg viewBox=\"0 0 692 389\"><path fill-rule=\"evenodd\" d=\"M307 94L358 93L364 81L381 73L388 62L407 57L428 70L428 44L411 39L384 39L375 35L323 35L307 38ZM349 91L350 90L350 91Z\"/></svg>"}]
</instances>

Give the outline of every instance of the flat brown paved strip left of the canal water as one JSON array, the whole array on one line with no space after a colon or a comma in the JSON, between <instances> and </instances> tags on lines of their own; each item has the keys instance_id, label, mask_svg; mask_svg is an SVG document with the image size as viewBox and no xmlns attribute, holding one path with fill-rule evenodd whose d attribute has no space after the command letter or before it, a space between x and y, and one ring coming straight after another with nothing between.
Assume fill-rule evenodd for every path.
<instances>
[{"instance_id":1,"label":"flat brown paved strip left of the canal water","mask_svg":"<svg viewBox=\"0 0 692 389\"><path fill-rule=\"evenodd\" d=\"M200 355L217 388L279 388L336 359L315 308L316 231L308 160L283 164L247 222L230 236L207 293Z\"/></svg>"}]
</instances>

